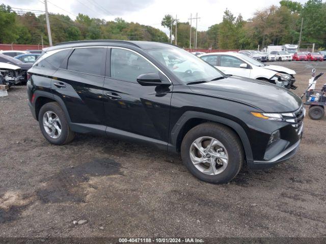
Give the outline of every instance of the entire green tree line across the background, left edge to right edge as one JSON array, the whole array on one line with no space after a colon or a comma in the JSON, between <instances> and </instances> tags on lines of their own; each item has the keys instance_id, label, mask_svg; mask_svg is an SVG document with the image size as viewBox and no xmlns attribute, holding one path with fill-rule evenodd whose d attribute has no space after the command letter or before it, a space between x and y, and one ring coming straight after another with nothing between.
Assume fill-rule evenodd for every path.
<instances>
[{"instance_id":1,"label":"entire green tree line across the background, left edge to right edge","mask_svg":"<svg viewBox=\"0 0 326 244\"><path fill-rule=\"evenodd\" d=\"M212 49L257 49L258 45L297 44L303 18L301 43L315 43L318 48L326 47L326 3L322 0L308 0L305 4L282 0L280 6L270 6L254 13L244 20L239 14L235 16L226 9L221 23L211 25L207 31L198 32L198 48ZM174 19L166 15L161 25L172 27L168 37L158 28L122 18L114 21L90 18L79 13L75 20L67 15L49 14L53 43L91 40L145 40L169 42L175 33ZM196 29L192 27L192 42ZM177 23L177 45L189 47L189 22ZM46 21L43 12L23 13L10 6L0 5L0 43L48 45ZM192 44L192 47L194 44Z\"/></svg>"}]
</instances>

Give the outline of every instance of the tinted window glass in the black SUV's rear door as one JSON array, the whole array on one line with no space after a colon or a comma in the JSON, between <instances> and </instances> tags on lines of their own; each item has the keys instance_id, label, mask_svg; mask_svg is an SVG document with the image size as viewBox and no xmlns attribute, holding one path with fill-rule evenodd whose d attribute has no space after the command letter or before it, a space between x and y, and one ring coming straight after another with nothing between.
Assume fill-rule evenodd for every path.
<instances>
[{"instance_id":1,"label":"tinted window glass in the black SUV's rear door","mask_svg":"<svg viewBox=\"0 0 326 244\"><path fill-rule=\"evenodd\" d=\"M67 69L93 75L104 75L106 48L76 48L68 58Z\"/></svg>"}]
</instances>

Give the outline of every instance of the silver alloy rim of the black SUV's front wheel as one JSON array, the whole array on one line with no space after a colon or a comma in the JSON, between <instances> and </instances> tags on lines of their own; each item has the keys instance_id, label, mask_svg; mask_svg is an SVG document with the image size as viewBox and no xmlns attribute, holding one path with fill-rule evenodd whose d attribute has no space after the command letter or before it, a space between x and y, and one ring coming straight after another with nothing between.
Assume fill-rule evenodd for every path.
<instances>
[{"instance_id":1,"label":"silver alloy rim of the black SUV's front wheel","mask_svg":"<svg viewBox=\"0 0 326 244\"><path fill-rule=\"evenodd\" d=\"M213 137L197 138L192 143L189 154L194 166L204 174L220 174L228 165L229 158L225 146Z\"/></svg>"}]
</instances>

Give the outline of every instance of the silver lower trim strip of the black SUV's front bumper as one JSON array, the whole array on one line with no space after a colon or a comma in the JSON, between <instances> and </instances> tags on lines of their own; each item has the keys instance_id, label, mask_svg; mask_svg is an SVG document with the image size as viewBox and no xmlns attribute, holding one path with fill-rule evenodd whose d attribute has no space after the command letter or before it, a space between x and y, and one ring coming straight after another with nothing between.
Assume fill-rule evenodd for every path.
<instances>
[{"instance_id":1,"label":"silver lower trim strip of the black SUV's front bumper","mask_svg":"<svg viewBox=\"0 0 326 244\"><path fill-rule=\"evenodd\" d=\"M270 159L268 161L252 161L248 162L248 167L250 169L268 169L270 167L273 167L285 160L288 160L292 158L297 150L299 149L301 139L298 140L296 143L294 143L292 146L287 148L286 150L282 151L279 155L275 156L273 159Z\"/></svg>"}]
</instances>

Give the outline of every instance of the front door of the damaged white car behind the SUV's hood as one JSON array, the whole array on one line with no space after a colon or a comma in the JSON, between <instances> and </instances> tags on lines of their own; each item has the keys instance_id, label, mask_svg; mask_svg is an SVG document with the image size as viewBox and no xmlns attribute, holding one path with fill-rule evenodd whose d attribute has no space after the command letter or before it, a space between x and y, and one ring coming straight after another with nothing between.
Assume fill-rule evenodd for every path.
<instances>
[{"instance_id":1,"label":"front door of the damaged white car behind the SUV's hood","mask_svg":"<svg viewBox=\"0 0 326 244\"><path fill-rule=\"evenodd\" d=\"M216 67L227 75L237 75L250 78L250 68L240 68L241 64L246 64L241 59L231 55L220 55L219 66ZM250 67L250 66L248 66Z\"/></svg>"}]
</instances>

